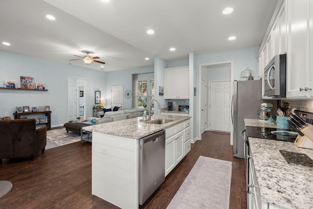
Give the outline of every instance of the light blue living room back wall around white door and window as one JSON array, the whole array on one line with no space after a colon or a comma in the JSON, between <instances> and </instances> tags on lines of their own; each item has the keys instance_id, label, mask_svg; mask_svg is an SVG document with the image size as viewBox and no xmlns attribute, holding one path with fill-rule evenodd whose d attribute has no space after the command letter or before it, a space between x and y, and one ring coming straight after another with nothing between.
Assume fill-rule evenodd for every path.
<instances>
[{"instance_id":1,"label":"light blue living room back wall around white door and window","mask_svg":"<svg viewBox=\"0 0 313 209\"><path fill-rule=\"evenodd\" d=\"M154 66L146 66L141 68L134 68L128 70L117 70L117 71L110 71L107 73L107 81L106 81L106 94L101 96L106 99L106 108L111 107L111 86L123 86L123 91L129 89L132 91L132 74L134 73L146 73L146 72L154 72ZM153 77L154 73L148 74L141 74L138 77ZM145 77L147 78L147 77ZM132 92L132 97L134 93ZM125 96L123 97L124 107L132 108L132 97L130 99L126 99Z\"/></svg>"}]
</instances>

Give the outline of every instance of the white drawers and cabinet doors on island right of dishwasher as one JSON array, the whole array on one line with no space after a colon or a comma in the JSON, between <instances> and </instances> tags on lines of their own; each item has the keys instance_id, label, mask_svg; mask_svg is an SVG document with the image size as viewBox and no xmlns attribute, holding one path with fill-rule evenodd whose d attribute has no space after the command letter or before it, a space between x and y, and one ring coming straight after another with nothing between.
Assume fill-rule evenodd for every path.
<instances>
[{"instance_id":1,"label":"white drawers and cabinet doors on island right of dishwasher","mask_svg":"<svg viewBox=\"0 0 313 209\"><path fill-rule=\"evenodd\" d=\"M190 151L190 120L165 129L165 176Z\"/></svg>"}]
</instances>

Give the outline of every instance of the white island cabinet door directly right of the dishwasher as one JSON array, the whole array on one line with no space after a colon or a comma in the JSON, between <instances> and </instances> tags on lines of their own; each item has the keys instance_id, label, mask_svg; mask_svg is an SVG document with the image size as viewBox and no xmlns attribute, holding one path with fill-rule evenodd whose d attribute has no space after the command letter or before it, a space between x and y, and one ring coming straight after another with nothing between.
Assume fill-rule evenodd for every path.
<instances>
[{"instance_id":1,"label":"white island cabinet door directly right of the dishwasher","mask_svg":"<svg viewBox=\"0 0 313 209\"><path fill-rule=\"evenodd\" d=\"M176 165L176 135L165 140L165 176Z\"/></svg>"}]
</instances>

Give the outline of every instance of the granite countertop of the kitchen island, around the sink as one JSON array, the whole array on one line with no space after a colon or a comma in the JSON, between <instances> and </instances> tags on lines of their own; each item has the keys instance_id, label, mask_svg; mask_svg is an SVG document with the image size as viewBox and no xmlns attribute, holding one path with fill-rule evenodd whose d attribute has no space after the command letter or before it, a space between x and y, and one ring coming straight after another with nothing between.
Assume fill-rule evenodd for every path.
<instances>
[{"instance_id":1,"label":"granite countertop of the kitchen island, around the sink","mask_svg":"<svg viewBox=\"0 0 313 209\"><path fill-rule=\"evenodd\" d=\"M110 134L119 137L140 139L157 131L163 130L182 121L188 120L190 116L173 116L173 115L154 115L151 120L156 119L173 119L166 124L157 125L141 122L142 117L130 118L126 120L118 120L109 123L92 125L83 127L84 130L90 132L98 132L102 134Z\"/></svg>"}]
</instances>

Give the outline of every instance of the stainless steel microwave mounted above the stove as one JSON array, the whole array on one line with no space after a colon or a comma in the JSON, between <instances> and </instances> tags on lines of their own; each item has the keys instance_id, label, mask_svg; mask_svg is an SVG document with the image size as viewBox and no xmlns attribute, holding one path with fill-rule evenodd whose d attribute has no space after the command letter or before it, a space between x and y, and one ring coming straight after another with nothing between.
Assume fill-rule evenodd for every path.
<instances>
[{"instance_id":1,"label":"stainless steel microwave mounted above the stove","mask_svg":"<svg viewBox=\"0 0 313 209\"><path fill-rule=\"evenodd\" d=\"M286 97L286 54L273 57L264 70L264 95Z\"/></svg>"}]
</instances>

